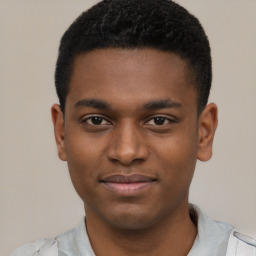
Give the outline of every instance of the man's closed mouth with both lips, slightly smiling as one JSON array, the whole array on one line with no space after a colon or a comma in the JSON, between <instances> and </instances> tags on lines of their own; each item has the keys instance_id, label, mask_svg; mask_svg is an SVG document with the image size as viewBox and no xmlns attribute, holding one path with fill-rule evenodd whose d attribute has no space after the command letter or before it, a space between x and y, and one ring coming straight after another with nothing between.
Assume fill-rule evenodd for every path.
<instances>
[{"instance_id":1,"label":"man's closed mouth with both lips, slightly smiling","mask_svg":"<svg viewBox=\"0 0 256 256\"><path fill-rule=\"evenodd\" d=\"M140 174L112 175L101 180L108 190L123 197L136 196L155 182L156 179Z\"/></svg>"}]
</instances>

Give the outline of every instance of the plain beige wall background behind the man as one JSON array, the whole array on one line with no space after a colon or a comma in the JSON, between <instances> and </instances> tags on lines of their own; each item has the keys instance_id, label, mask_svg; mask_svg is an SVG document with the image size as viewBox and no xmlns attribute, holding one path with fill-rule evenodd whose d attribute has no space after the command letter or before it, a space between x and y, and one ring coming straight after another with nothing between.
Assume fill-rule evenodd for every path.
<instances>
[{"instance_id":1,"label":"plain beige wall background behind the man","mask_svg":"<svg viewBox=\"0 0 256 256\"><path fill-rule=\"evenodd\" d=\"M256 1L180 0L201 20L219 106L214 157L199 163L191 201L256 237ZM82 203L57 158L50 106L61 35L87 0L0 0L0 255L69 229Z\"/></svg>"}]
</instances>

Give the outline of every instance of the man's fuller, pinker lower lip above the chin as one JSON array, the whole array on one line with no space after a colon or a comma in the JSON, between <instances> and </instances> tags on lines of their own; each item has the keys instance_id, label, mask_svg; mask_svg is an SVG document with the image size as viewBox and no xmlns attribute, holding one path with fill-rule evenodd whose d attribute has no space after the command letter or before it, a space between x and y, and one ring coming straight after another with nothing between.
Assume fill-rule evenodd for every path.
<instances>
[{"instance_id":1,"label":"man's fuller, pinker lower lip above the chin","mask_svg":"<svg viewBox=\"0 0 256 256\"><path fill-rule=\"evenodd\" d=\"M103 184L112 192L120 196L135 196L140 192L148 189L153 185L152 182L136 182L136 183L112 183L104 182Z\"/></svg>"}]
</instances>

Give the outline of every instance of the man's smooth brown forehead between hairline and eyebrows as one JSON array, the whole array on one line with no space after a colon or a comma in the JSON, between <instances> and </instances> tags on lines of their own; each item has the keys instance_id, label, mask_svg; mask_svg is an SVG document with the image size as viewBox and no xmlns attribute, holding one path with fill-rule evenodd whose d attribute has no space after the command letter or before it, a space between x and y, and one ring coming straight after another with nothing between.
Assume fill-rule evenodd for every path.
<instances>
[{"instance_id":1,"label":"man's smooth brown forehead between hairline and eyebrows","mask_svg":"<svg viewBox=\"0 0 256 256\"><path fill-rule=\"evenodd\" d=\"M195 101L187 63L153 49L100 49L79 55L73 66L69 102L83 98L139 104L171 98Z\"/></svg>"}]
</instances>

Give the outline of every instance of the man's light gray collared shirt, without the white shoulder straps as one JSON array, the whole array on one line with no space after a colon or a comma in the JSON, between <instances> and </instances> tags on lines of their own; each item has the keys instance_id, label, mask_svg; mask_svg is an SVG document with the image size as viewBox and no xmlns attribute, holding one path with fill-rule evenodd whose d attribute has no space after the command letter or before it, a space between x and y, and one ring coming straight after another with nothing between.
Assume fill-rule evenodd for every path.
<instances>
[{"instance_id":1,"label":"man's light gray collared shirt, without the white shoulder straps","mask_svg":"<svg viewBox=\"0 0 256 256\"><path fill-rule=\"evenodd\" d=\"M204 215L195 205L191 211L197 215L198 234L188 256L224 256L233 227L227 223L213 221ZM83 219L77 228L56 237L59 244L59 256L95 256ZM11 256L32 256L45 242L45 239L25 244Z\"/></svg>"}]
</instances>

